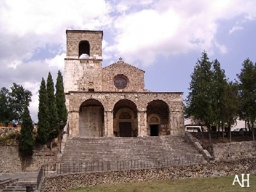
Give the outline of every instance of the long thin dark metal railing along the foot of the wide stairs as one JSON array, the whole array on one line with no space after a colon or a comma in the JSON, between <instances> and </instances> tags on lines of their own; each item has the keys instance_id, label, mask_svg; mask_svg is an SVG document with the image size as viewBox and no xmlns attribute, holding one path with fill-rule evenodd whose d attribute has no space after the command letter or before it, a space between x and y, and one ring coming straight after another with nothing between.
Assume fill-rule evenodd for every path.
<instances>
[{"instance_id":1,"label":"long thin dark metal railing along the foot of the wide stairs","mask_svg":"<svg viewBox=\"0 0 256 192\"><path fill-rule=\"evenodd\" d=\"M138 159L122 161L85 161L79 163L50 163L41 168L43 175L62 175L104 171L136 170L185 164L207 163L201 155L174 156L163 159Z\"/></svg>"}]
</instances>

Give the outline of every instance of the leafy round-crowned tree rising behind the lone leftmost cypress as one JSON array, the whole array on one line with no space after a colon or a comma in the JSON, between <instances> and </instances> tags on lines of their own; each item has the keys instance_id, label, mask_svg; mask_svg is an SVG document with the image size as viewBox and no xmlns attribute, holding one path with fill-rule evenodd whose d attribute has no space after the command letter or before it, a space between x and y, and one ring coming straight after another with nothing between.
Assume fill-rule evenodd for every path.
<instances>
[{"instance_id":1,"label":"leafy round-crowned tree rising behind the lone leftmost cypress","mask_svg":"<svg viewBox=\"0 0 256 192\"><path fill-rule=\"evenodd\" d=\"M13 122L22 122L22 114L24 109L29 106L31 97L32 93L29 90L24 89L20 84L13 83L11 92L9 92L9 102Z\"/></svg>"}]
</instances>

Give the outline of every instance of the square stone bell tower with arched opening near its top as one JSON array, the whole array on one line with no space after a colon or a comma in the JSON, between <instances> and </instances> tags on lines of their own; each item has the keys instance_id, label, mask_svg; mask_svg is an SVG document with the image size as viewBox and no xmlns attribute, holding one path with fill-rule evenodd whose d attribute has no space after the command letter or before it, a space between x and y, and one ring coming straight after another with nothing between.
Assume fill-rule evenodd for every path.
<instances>
[{"instance_id":1,"label":"square stone bell tower with arched opening near its top","mask_svg":"<svg viewBox=\"0 0 256 192\"><path fill-rule=\"evenodd\" d=\"M66 30L64 92L102 90L103 31Z\"/></svg>"}]
</instances>

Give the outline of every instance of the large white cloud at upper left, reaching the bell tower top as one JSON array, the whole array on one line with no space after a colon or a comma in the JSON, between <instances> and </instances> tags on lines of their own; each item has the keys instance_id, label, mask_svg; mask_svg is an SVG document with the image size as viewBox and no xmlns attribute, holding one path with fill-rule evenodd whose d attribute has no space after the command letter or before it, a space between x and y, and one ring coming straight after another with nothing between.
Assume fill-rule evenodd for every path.
<instances>
[{"instance_id":1,"label":"large white cloud at upper left, reaching the bell tower top","mask_svg":"<svg viewBox=\"0 0 256 192\"><path fill-rule=\"evenodd\" d=\"M106 26L111 22L110 8L104 0L1 1L0 57L29 60L46 44L59 45L64 52L67 28Z\"/></svg>"}]
</instances>

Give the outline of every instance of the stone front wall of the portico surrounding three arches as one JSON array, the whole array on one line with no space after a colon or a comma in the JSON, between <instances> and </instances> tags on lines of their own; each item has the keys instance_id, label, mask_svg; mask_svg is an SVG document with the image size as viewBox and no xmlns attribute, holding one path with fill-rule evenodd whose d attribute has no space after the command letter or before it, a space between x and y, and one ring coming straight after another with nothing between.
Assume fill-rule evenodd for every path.
<instances>
[{"instance_id":1,"label":"stone front wall of the portico surrounding three arches","mask_svg":"<svg viewBox=\"0 0 256 192\"><path fill-rule=\"evenodd\" d=\"M115 104L119 100L130 100L136 106L139 113L147 113L148 103L154 100L162 100L168 106L169 124L164 127L165 130L170 130L170 134L181 134L184 131L184 114L182 93L153 93L153 92L70 92L67 95L69 101L68 120L70 123L70 134L78 136L79 134L79 108L81 104L88 99L95 99L102 104L104 111L113 111ZM138 129L145 129L143 135L147 134L147 122L142 122L138 116ZM113 118L113 117L112 117ZM107 119L106 119L107 120ZM142 126L143 124L143 126ZM108 122L104 122L108 125ZM109 127L110 128L110 127ZM105 130L105 128L104 128ZM106 131L105 131L106 132ZM109 136L109 135L108 135Z\"/></svg>"}]
</instances>

